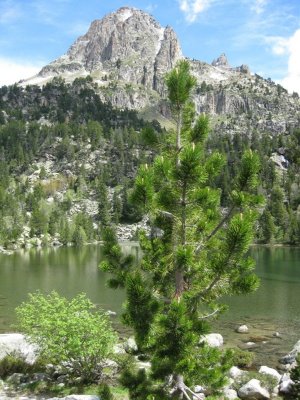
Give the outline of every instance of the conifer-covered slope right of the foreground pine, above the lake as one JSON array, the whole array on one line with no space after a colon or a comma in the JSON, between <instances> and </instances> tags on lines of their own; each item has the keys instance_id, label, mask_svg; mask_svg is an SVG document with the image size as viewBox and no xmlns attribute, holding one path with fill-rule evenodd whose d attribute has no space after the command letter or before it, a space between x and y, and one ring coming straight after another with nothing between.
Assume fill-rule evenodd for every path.
<instances>
[{"instance_id":1,"label":"conifer-covered slope right of the foreground pine, above the lake","mask_svg":"<svg viewBox=\"0 0 300 400\"><path fill-rule=\"evenodd\" d=\"M259 192L265 198L256 241L259 243L300 243L300 128L271 136L266 133L210 136L208 151L218 149L228 163L219 182L223 187L222 205L229 202L233 177L241 154L247 148L257 151L261 160ZM276 165L276 160L278 165Z\"/></svg>"}]
</instances>

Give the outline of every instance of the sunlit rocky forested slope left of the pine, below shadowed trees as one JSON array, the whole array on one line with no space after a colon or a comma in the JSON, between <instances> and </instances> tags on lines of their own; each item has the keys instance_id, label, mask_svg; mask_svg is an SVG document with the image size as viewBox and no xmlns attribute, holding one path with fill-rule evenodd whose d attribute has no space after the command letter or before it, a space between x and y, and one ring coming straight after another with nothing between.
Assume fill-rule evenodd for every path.
<instances>
[{"instance_id":1,"label":"sunlit rocky forested slope left of the pine, below shadowed trees","mask_svg":"<svg viewBox=\"0 0 300 400\"><path fill-rule=\"evenodd\" d=\"M132 178L153 157L149 138L164 137L143 124L140 131L98 121L0 126L0 245L81 245L110 223L140 220L129 201Z\"/></svg>"}]
</instances>

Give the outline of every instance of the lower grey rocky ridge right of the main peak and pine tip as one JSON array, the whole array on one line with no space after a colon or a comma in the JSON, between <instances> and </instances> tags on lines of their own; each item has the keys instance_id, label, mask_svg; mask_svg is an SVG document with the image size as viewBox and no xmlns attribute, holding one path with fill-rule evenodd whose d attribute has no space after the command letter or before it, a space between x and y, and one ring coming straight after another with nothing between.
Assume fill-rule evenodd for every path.
<instances>
[{"instance_id":1,"label":"lower grey rocky ridge right of the main peak and pine tip","mask_svg":"<svg viewBox=\"0 0 300 400\"><path fill-rule=\"evenodd\" d=\"M300 101L270 78L250 74L247 66L231 68L226 56L213 63L191 61L198 87L194 101L199 113L209 114L219 131L283 133L300 123ZM224 60L225 59L225 60Z\"/></svg>"}]
</instances>

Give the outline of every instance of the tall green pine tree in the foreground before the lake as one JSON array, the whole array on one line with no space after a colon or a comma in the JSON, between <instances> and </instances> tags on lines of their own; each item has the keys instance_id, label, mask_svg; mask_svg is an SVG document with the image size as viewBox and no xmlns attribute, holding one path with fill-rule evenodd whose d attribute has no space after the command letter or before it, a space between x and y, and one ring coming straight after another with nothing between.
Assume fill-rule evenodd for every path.
<instances>
[{"instance_id":1,"label":"tall green pine tree in the foreground before the lake","mask_svg":"<svg viewBox=\"0 0 300 400\"><path fill-rule=\"evenodd\" d=\"M247 251L261 200L255 194L259 160L250 150L244 153L223 213L222 190L214 184L225 160L204 150L209 124L205 115L194 119L195 83L187 61L167 75L177 129L135 180L132 201L143 207L151 225L150 234L140 235L141 263L122 256L112 231L105 237L102 268L113 274L112 287L125 287L123 321L151 361L149 373L124 372L131 399L197 398L191 389L196 383L217 391L225 383L230 354L199 339L224 309L221 296L258 286Z\"/></svg>"}]
</instances>

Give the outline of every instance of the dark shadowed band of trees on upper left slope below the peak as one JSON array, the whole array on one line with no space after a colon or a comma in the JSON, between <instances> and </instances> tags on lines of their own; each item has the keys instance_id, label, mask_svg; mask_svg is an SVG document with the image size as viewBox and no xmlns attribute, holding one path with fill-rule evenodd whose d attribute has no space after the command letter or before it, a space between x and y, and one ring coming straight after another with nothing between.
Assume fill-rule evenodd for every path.
<instances>
[{"instance_id":1,"label":"dark shadowed band of trees on upper left slope below the peak","mask_svg":"<svg viewBox=\"0 0 300 400\"><path fill-rule=\"evenodd\" d=\"M77 78L72 83L55 77L43 87L17 84L0 88L0 125L11 119L38 121L44 118L51 122L80 124L90 120L101 122L105 128L132 127L141 129L145 121L134 110L120 110L101 101L95 92L97 87L91 77ZM155 129L161 127L153 121Z\"/></svg>"}]
</instances>

